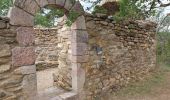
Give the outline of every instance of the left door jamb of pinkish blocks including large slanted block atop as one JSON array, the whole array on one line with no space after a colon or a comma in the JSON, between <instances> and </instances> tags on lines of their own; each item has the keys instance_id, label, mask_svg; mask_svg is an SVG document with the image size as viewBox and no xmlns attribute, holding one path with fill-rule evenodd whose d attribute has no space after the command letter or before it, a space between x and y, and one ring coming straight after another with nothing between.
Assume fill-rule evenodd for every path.
<instances>
[{"instance_id":1,"label":"left door jamb of pinkish blocks including large slanted block atop","mask_svg":"<svg viewBox=\"0 0 170 100\"><path fill-rule=\"evenodd\" d=\"M28 1L28 0L27 0ZM16 29L16 40L18 45L12 49L12 66L15 74L22 75L22 95L24 100L33 100L37 93L37 79L35 67L33 12L27 12L29 8L18 8L18 0L14 2L15 7L10 9L10 24ZM29 3L29 2L28 2ZM29 6L29 4L25 4ZM36 6L36 4L34 3ZM37 10L37 9L34 9Z\"/></svg>"}]
</instances>

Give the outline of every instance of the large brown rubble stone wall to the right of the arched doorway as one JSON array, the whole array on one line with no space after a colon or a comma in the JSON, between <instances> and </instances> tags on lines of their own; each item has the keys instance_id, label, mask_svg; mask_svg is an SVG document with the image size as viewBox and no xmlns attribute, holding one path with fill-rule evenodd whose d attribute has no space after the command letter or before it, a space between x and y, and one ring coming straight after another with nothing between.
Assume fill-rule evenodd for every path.
<instances>
[{"instance_id":1,"label":"large brown rubble stone wall to the right of the arched doorway","mask_svg":"<svg viewBox=\"0 0 170 100\"><path fill-rule=\"evenodd\" d=\"M156 25L149 21L115 23L86 17L89 62L86 70L87 100L98 100L128 83L140 80L156 67Z\"/></svg>"}]
</instances>

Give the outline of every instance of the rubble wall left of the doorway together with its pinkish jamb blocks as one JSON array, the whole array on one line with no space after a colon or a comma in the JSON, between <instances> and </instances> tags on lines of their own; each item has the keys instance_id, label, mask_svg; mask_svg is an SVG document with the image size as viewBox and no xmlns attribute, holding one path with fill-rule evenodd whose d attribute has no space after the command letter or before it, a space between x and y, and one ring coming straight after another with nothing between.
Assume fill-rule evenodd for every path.
<instances>
[{"instance_id":1,"label":"rubble wall left of the doorway together with its pinkish jamb blocks","mask_svg":"<svg viewBox=\"0 0 170 100\"><path fill-rule=\"evenodd\" d=\"M34 36L32 28L12 26L9 18L0 17L0 100L36 96Z\"/></svg>"}]
</instances>

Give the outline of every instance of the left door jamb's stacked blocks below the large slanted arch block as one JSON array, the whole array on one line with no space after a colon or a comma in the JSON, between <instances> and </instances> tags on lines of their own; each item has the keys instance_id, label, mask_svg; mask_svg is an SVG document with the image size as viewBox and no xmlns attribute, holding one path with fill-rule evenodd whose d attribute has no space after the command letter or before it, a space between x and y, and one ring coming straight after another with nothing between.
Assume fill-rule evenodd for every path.
<instances>
[{"instance_id":1,"label":"left door jamb's stacked blocks below the large slanted arch block","mask_svg":"<svg viewBox=\"0 0 170 100\"><path fill-rule=\"evenodd\" d=\"M23 100L34 100L37 94L34 29L33 27L18 27L16 32L19 45L12 50L12 66L16 74L23 75L21 83Z\"/></svg>"}]
</instances>

